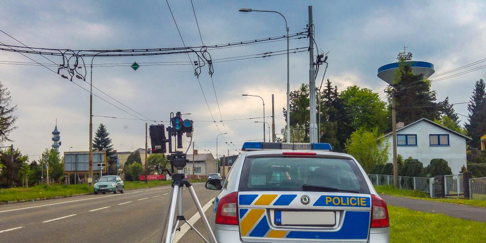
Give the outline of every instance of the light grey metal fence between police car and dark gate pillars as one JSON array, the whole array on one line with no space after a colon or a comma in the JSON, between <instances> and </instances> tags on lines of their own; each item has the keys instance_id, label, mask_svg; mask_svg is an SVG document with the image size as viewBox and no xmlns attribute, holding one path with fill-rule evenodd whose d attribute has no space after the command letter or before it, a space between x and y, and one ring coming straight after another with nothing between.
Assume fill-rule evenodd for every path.
<instances>
[{"instance_id":1,"label":"light grey metal fence between police car and dark gate pillars","mask_svg":"<svg viewBox=\"0 0 486 243\"><path fill-rule=\"evenodd\" d=\"M376 186L393 185L393 175L368 174L369 179ZM434 195L434 178L399 176L399 189L422 191Z\"/></svg>"}]
</instances>

